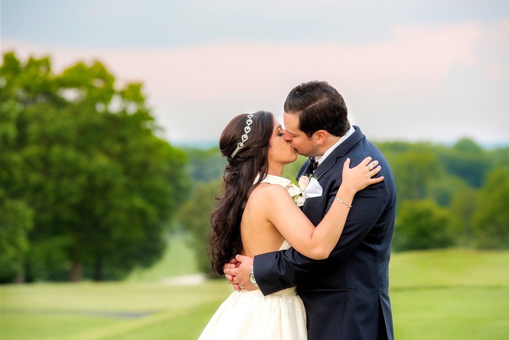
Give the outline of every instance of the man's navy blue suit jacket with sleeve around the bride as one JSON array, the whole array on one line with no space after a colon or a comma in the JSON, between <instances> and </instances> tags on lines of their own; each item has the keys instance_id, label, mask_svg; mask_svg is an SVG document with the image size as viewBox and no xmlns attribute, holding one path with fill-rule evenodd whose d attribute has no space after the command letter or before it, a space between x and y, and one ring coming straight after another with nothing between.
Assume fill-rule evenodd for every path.
<instances>
[{"instance_id":1,"label":"man's navy blue suit jacket with sleeve around the bride","mask_svg":"<svg viewBox=\"0 0 509 340\"><path fill-rule=\"evenodd\" d=\"M389 300L390 241L396 189L389 164L357 126L318 166L314 175L323 195L306 199L302 211L316 226L334 202L343 164L371 156L384 180L357 192L340 240L326 260L312 260L295 249L254 257L253 273L264 295L297 286L307 314L309 340L394 338ZM305 162L299 175L310 174Z\"/></svg>"}]
</instances>

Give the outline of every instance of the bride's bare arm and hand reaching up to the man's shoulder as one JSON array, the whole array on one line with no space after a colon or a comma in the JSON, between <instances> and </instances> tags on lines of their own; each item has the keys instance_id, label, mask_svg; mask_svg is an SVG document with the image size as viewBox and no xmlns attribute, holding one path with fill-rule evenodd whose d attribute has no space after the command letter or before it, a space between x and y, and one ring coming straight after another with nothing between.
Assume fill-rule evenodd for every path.
<instances>
[{"instance_id":1,"label":"bride's bare arm and hand reaching up to the man's shoulder","mask_svg":"<svg viewBox=\"0 0 509 340\"><path fill-rule=\"evenodd\" d=\"M378 183L383 177L371 178L380 171L380 166L372 171L369 169L371 157L365 158L356 167L350 168L350 159L345 161L343 167L343 182L337 190L334 200L323 220L315 228L313 223L293 202L288 191L280 185L270 185L264 190L265 201L261 202L265 209L266 218L274 224L279 233L304 256L323 260L329 257L330 252L340 239L345 221L348 216L347 205L352 204L353 196L366 186ZM377 165L378 161L372 164Z\"/></svg>"}]
</instances>

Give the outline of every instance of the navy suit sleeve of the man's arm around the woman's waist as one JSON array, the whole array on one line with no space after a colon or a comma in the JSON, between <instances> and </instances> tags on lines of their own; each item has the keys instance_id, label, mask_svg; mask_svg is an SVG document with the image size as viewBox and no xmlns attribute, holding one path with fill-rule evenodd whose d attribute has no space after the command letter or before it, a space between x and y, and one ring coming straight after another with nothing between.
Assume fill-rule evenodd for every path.
<instances>
[{"instance_id":1,"label":"navy suit sleeve of the man's arm around the woman's waist","mask_svg":"<svg viewBox=\"0 0 509 340\"><path fill-rule=\"evenodd\" d=\"M329 194L327 211L334 202L338 181ZM309 259L294 248L273 251L254 257L253 274L264 295L295 287L312 278L327 264L342 261L373 228L387 204L385 182L379 182L357 192L340 240L326 260Z\"/></svg>"}]
</instances>

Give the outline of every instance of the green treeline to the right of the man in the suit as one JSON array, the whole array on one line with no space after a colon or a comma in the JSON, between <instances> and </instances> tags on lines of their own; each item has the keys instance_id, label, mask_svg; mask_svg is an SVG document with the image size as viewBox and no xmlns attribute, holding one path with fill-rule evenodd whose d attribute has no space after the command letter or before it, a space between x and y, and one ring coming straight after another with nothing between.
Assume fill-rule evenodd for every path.
<instances>
[{"instance_id":1,"label":"green treeline to the right of the man in the suit","mask_svg":"<svg viewBox=\"0 0 509 340\"><path fill-rule=\"evenodd\" d=\"M509 148L379 143L398 192L392 247L509 248Z\"/></svg>"}]
</instances>

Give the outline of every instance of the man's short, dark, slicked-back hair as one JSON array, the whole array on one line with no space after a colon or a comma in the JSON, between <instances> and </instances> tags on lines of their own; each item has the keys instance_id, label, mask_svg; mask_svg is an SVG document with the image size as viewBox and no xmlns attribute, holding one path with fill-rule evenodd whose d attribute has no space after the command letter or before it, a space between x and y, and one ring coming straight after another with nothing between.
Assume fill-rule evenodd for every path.
<instances>
[{"instance_id":1,"label":"man's short, dark, slicked-back hair","mask_svg":"<svg viewBox=\"0 0 509 340\"><path fill-rule=\"evenodd\" d=\"M299 115L299 130L309 138L318 130L342 137L350 129L345 100L327 81L296 86L285 101L285 112Z\"/></svg>"}]
</instances>

